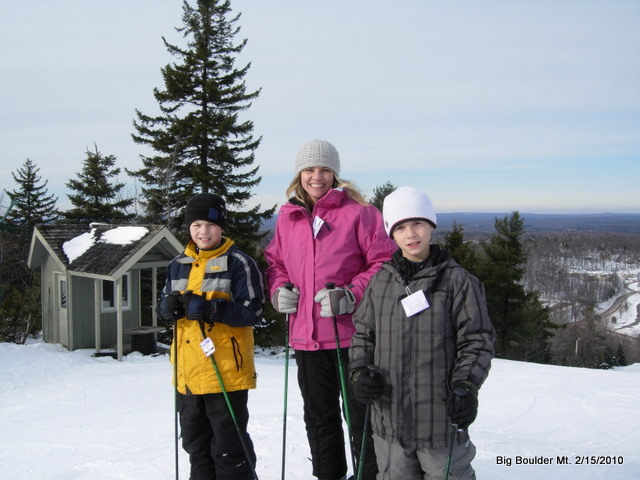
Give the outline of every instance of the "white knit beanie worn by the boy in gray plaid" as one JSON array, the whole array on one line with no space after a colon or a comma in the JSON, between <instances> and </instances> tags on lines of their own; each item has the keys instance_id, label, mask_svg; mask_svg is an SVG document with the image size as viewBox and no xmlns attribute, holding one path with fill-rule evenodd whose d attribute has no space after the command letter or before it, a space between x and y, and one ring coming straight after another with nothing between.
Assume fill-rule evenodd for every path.
<instances>
[{"instance_id":1,"label":"white knit beanie worn by the boy in gray plaid","mask_svg":"<svg viewBox=\"0 0 640 480\"><path fill-rule=\"evenodd\" d=\"M393 229L407 220L426 220L433 228L437 226L429 195L413 187L400 187L387 195L382 202L382 218L390 237Z\"/></svg>"}]
</instances>

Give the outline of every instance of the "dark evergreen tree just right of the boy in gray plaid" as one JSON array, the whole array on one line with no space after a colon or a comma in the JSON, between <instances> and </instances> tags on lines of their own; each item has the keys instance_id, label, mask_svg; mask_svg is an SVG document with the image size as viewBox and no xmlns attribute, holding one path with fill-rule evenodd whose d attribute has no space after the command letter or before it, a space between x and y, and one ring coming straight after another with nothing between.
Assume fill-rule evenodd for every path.
<instances>
[{"instance_id":1,"label":"dark evergreen tree just right of the boy in gray plaid","mask_svg":"<svg viewBox=\"0 0 640 480\"><path fill-rule=\"evenodd\" d=\"M481 242L484 256L478 268L489 315L496 329L497 353L503 358L545 361L554 325L536 292L526 292L523 277L526 254L522 247L524 219L518 212L496 218L496 233Z\"/></svg>"}]
</instances>

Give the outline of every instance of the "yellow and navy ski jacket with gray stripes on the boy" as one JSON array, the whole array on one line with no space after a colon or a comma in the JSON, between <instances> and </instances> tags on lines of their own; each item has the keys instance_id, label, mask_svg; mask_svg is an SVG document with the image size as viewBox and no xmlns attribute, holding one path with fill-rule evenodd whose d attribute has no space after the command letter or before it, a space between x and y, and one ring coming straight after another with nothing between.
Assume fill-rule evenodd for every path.
<instances>
[{"instance_id":1,"label":"yellow and navy ski jacket with gray stripes on the boy","mask_svg":"<svg viewBox=\"0 0 640 480\"><path fill-rule=\"evenodd\" d=\"M260 320L265 301L263 278L256 262L229 238L223 238L213 250L199 250L189 241L185 251L167 268L160 313L166 310L167 295L189 290L203 295L206 301L226 302L224 316L218 322L187 318L176 322L171 360L175 361L177 346L178 391L186 395L222 392L213 363L200 347L205 337L215 346L213 356L225 390L256 388L253 325Z\"/></svg>"}]
</instances>

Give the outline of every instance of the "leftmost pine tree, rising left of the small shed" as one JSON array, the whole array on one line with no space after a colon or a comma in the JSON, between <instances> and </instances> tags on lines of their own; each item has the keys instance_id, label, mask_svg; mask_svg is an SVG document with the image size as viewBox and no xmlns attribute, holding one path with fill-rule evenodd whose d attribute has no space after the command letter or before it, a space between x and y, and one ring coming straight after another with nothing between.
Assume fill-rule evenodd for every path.
<instances>
[{"instance_id":1,"label":"leftmost pine tree, rising left of the small shed","mask_svg":"<svg viewBox=\"0 0 640 480\"><path fill-rule=\"evenodd\" d=\"M56 209L58 198L48 194L48 181L42 182L39 171L40 169L27 158L22 168L18 168L16 173L11 173L18 188L6 191L13 202L8 218L28 238L31 238L33 227L51 223L59 217Z\"/></svg>"}]
</instances>

